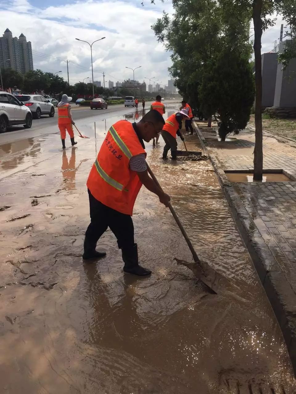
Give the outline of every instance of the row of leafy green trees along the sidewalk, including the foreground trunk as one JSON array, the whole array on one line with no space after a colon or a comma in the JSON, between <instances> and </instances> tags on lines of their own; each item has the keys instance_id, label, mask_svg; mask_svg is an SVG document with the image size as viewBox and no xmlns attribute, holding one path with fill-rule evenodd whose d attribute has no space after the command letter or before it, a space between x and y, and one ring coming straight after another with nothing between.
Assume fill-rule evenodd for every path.
<instances>
[{"instance_id":1,"label":"row of leafy green trees along the sidewalk, including the foreground trunk","mask_svg":"<svg viewBox=\"0 0 296 394\"><path fill-rule=\"evenodd\" d=\"M270 15L276 14L290 26L286 35L295 37L295 0L172 0L172 4L173 17L163 13L152 29L158 41L172 52L169 72L176 86L193 110L202 110L209 119L215 116L222 140L245 128L255 96L253 176L262 180L261 37L275 24ZM249 63L251 19L255 84ZM287 46L280 56L283 66L287 67L295 55L295 46Z\"/></svg>"}]
</instances>

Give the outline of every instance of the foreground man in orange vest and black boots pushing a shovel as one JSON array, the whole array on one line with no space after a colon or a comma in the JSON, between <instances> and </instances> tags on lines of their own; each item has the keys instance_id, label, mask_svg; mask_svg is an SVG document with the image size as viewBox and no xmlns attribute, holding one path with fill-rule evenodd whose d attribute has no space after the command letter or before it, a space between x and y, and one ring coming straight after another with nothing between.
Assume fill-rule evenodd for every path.
<instances>
[{"instance_id":1,"label":"foreground man in orange vest and black boots pushing a shovel","mask_svg":"<svg viewBox=\"0 0 296 394\"><path fill-rule=\"evenodd\" d=\"M109 129L86 186L90 201L90 225L85 233L82 258L91 260L106 255L96 251L97 241L110 227L122 250L124 272L150 275L139 265L137 243L131 218L142 184L168 206L170 197L149 177L144 141L155 138L165 121L157 111L149 111L139 123L118 121Z\"/></svg>"}]
</instances>

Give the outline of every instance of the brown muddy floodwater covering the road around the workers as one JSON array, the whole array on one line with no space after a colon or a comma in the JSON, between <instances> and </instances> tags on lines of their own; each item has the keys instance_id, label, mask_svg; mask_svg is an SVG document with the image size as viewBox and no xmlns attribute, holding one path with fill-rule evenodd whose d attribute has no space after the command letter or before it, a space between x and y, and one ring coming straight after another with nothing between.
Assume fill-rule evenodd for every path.
<instances>
[{"instance_id":1,"label":"brown muddy floodwater covering the road around the workers","mask_svg":"<svg viewBox=\"0 0 296 394\"><path fill-rule=\"evenodd\" d=\"M59 134L0 145L0 392L295 393L283 336L209 161L163 162L162 138L146 143L197 254L232 292L210 294L177 266L190 251L144 188L133 221L152 276L123 274L110 230L98 243L106 258L82 263L86 178L118 119L99 118L96 136L96 119L78 121L90 139L71 148L67 137L64 152ZM197 136L186 142L202 151Z\"/></svg>"}]
</instances>

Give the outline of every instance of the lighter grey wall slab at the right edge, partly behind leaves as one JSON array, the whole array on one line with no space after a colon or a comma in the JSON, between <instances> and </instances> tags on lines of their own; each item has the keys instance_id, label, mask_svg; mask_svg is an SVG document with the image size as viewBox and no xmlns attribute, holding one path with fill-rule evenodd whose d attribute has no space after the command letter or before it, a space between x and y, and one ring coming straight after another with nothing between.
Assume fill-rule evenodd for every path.
<instances>
[{"instance_id":1,"label":"lighter grey wall slab at the right edge, partly behind leaves","mask_svg":"<svg viewBox=\"0 0 296 394\"><path fill-rule=\"evenodd\" d=\"M284 46L289 43L286 40L279 44L279 53L283 52ZM289 66L282 70L283 65L277 65L275 82L274 107L296 107L296 58L290 60Z\"/></svg>"}]
</instances>

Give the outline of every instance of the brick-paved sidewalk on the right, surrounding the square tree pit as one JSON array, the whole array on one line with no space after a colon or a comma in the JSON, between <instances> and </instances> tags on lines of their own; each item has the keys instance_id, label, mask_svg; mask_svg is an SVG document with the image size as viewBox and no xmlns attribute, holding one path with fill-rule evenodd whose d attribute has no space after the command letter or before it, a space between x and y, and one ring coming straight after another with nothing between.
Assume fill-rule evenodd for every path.
<instances>
[{"instance_id":1,"label":"brick-paved sidewalk on the right, surrounding the square tree pit","mask_svg":"<svg viewBox=\"0 0 296 394\"><path fill-rule=\"evenodd\" d=\"M196 122L232 213L283 331L296 372L296 147L263 136L263 168L282 169L290 182L231 183L224 171L253 169L255 133L219 142L214 129Z\"/></svg>"}]
</instances>

